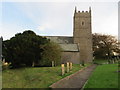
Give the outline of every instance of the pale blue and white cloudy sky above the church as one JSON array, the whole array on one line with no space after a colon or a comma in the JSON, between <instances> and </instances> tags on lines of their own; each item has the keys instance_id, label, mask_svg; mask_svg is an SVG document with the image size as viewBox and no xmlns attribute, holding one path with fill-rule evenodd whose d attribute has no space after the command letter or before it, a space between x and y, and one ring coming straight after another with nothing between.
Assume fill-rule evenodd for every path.
<instances>
[{"instance_id":1,"label":"pale blue and white cloudy sky above the church","mask_svg":"<svg viewBox=\"0 0 120 90\"><path fill-rule=\"evenodd\" d=\"M25 30L41 36L72 36L75 6L77 11L88 11L91 7L92 33L118 36L118 0L8 1L0 2L0 36L4 40Z\"/></svg>"}]
</instances>

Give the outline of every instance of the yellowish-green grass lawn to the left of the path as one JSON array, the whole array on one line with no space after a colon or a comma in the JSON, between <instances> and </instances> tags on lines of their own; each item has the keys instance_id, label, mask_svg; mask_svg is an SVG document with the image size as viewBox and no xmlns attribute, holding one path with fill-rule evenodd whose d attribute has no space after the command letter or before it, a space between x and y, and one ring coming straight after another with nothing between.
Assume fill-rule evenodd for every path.
<instances>
[{"instance_id":1,"label":"yellowish-green grass lawn to the left of the path","mask_svg":"<svg viewBox=\"0 0 120 90\"><path fill-rule=\"evenodd\" d=\"M56 81L80 70L78 64L73 65L71 72L61 76L61 67L33 67L8 69L2 72L3 88L48 88Z\"/></svg>"}]
</instances>

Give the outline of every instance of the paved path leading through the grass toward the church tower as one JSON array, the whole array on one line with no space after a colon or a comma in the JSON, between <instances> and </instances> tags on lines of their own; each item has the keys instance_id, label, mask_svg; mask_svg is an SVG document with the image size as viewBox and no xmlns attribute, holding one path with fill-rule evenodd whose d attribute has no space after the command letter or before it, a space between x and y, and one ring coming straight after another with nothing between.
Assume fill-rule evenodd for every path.
<instances>
[{"instance_id":1,"label":"paved path leading through the grass toward the church tower","mask_svg":"<svg viewBox=\"0 0 120 90\"><path fill-rule=\"evenodd\" d=\"M51 85L52 88L79 88L81 89L85 82L88 80L92 71L97 65L91 65L88 68L78 71L76 74L70 76L69 78L64 78L57 83Z\"/></svg>"}]
</instances>

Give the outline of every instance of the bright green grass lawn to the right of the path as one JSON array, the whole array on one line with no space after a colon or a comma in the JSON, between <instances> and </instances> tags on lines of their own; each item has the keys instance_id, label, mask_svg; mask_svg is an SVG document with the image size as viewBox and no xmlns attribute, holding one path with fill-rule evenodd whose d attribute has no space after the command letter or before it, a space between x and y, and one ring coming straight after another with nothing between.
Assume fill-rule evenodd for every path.
<instances>
[{"instance_id":1,"label":"bright green grass lawn to the right of the path","mask_svg":"<svg viewBox=\"0 0 120 90\"><path fill-rule=\"evenodd\" d=\"M118 64L99 65L85 88L118 88Z\"/></svg>"}]
</instances>

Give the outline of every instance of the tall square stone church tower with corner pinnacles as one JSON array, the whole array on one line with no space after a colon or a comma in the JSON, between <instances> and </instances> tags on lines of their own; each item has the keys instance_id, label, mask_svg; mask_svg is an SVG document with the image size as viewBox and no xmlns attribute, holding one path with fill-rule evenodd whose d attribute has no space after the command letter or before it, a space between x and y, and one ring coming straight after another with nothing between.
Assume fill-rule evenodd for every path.
<instances>
[{"instance_id":1,"label":"tall square stone church tower with corner pinnacles","mask_svg":"<svg viewBox=\"0 0 120 90\"><path fill-rule=\"evenodd\" d=\"M73 20L73 38L74 43L79 44L80 61L92 62L91 8L89 8L89 11L77 12L75 7Z\"/></svg>"}]
</instances>

